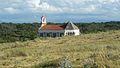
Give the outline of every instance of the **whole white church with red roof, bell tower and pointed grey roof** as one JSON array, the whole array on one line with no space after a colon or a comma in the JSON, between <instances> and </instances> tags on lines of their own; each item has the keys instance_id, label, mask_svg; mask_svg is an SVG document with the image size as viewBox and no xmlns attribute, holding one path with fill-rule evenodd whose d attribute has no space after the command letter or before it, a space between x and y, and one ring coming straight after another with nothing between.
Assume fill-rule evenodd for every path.
<instances>
[{"instance_id":1,"label":"whole white church with red roof, bell tower and pointed grey roof","mask_svg":"<svg viewBox=\"0 0 120 68\"><path fill-rule=\"evenodd\" d=\"M46 17L42 16L38 33L41 37L77 36L80 35L80 30L71 21L65 24L47 24Z\"/></svg>"}]
</instances>

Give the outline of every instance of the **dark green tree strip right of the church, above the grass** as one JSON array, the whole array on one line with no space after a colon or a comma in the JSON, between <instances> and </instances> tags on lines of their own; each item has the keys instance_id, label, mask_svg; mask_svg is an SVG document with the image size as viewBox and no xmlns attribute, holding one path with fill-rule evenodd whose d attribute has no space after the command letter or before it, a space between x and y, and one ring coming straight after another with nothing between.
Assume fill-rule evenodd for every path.
<instances>
[{"instance_id":1,"label":"dark green tree strip right of the church, above the grass","mask_svg":"<svg viewBox=\"0 0 120 68\"><path fill-rule=\"evenodd\" d=\"M120 22L111 21L111 22L101 22L101 23L76 23L80 28L81 33L96 33L96 32L105 32L108 30L119 30Z\"/></svg>"}]
</instances>

